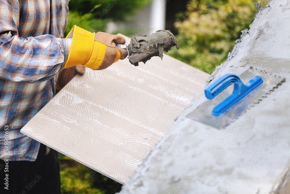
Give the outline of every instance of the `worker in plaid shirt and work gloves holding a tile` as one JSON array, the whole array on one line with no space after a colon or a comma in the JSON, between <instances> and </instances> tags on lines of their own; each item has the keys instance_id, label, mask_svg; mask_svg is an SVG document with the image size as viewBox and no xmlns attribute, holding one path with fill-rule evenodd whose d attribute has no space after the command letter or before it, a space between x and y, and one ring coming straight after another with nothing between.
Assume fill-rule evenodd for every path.
<instances>
[{"instance_id":1,"label":"worker in plaid shirt and work gloves holding a tile","mask_svg":"<svg viewBox=\"0 0 290 194\"><path fill-rule=\"evenodd\" d=\"M57 152L20 129L84 68L127 56L119 35L74 26L69 0L0 0L0 193L60 193ZM59 74L59 75L58 75ZM39 129L41 130L41 126Z\"/></svg>"}]
</instances>

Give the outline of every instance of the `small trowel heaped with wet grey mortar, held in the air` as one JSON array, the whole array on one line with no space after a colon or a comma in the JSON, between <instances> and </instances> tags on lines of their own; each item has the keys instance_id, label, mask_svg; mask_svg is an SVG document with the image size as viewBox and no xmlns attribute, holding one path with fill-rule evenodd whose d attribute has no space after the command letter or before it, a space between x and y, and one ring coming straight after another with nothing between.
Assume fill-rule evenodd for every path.
<instances>
[{"instance_id":1,"label":"small trowel heaped with wet grey mortar, held in the air","mask_svg":"<svg viewBox=\"0 0 290 194\"><path fill-rule=\"evenodd\" d=\"M146 63L153 56L162 59L163 52L168 52L173 46L179 49L178 40L169 30L158 30L149 36L138 34L131 39L128 46L119 44L116 46L127 50L128 59L135 66L138 66L140 61Z\"/></svg>"}]
</instances>

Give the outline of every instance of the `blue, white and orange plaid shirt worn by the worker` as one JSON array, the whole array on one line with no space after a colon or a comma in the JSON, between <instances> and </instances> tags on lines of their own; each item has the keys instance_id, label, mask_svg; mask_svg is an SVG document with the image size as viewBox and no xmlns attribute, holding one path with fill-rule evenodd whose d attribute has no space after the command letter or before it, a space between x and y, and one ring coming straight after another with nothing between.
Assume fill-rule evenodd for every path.
<instances>
[{"instance_id":1,"label":"blue, white and orange plaid shirt worn by the worker","mask_svg":"<svg viewBox=\"0 0 290 194\"><path fill-rule=\"evenodd\" d=\"M40 143L20 133L20 129L55 93L56 75L64 68L71 44L71 39L63 38L68 1L0 0L2 160L6 125L9 160L35 161L37 158Z\"/></svg>"}]
</instances>

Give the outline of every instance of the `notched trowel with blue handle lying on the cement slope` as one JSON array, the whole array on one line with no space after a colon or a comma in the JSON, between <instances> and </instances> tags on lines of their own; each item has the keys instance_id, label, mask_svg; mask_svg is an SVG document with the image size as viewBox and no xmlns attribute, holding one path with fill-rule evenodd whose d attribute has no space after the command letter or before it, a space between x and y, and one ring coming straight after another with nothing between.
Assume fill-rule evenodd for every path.
<instances>
[{"instance_id":1,"label":"notched trowel with blue handle lying on the cement slope","mask_svg":"<svg viewBox=\"0 0 290 194\"><path fill-rule=\"evenodd\" d=\"M225 128L274 91L285 78L250 68L240 76L225 74L204 90L204 102L187 118Z\"/></svg>"}]
</instances>

